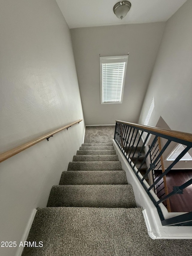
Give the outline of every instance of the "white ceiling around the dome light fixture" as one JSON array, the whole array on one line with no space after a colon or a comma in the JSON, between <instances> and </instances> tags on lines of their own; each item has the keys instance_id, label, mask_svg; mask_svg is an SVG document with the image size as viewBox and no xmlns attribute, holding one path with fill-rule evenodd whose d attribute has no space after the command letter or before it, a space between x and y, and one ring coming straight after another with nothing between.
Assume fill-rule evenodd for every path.
<instances>
[{"instance_id":1,"label":"white ceiling around the dome light fixture","mask_svg":"<svg viewBox=\"0 0 192 256\"><path fill-rule=\"evenodd\" d=\"M120 20L113 13L118 0L56 0L70 29L167 21L187 0L130 0Z\"/></svg>"}]
</instances>

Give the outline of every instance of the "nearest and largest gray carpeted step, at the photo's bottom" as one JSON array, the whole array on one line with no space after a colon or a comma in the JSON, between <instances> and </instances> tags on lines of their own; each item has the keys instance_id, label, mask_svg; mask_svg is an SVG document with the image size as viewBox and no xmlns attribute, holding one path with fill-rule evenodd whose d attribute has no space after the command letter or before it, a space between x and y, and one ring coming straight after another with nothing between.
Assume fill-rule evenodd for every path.
<instances>
[{"instance_id":1,"label":"nearest and largest gray carpeted step, at the photo's bottom","mask_svg":"<svg viewBox=\"0 0 192 256\"><path fill-rule=\"evenodd\" d=\"M161 254L166 245L158 251L159 241L149 238L142 210L38 208L27 241L43 241L43 247L26 246L22 256L168 255Z\"/></svg>"}]
</instances>

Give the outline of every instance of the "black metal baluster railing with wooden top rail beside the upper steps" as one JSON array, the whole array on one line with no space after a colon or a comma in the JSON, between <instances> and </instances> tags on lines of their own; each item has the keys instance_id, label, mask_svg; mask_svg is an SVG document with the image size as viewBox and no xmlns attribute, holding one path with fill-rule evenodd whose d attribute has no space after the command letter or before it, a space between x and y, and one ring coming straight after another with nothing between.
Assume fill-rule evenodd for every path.
<instances>
[{"instance_id":1,"label":"black metal baluster railing with wooden top rail beside the upper steps","mask_svg":"<svg viewBox=\"0 0 192 256\"><path fill-rule=\"evenodd\" d=\"M161 138L164 139L163 146L161 146ZM140 161L142 152L149 139L151 141L149 150L146 151L144 159ZM192 211L165 219L160 206L161 203L167 202L165 205L167 206L168 212L170 212L170 197L176 194L182 194L183 190L192 184L192 179L189 179L182 185L173 186L172 191L168 191L167 188L168 173L192 148L192 134L116 120L114 140L156 206L162 225L191 226ZM171 161L165 168L163 158L164 154L170 150L171 143L182 144L184 145L184 149L179 153L176 159ZM145 166L147 158L150 159L149 167L147 167L146 173L141 175L140 171L142 167ZM155 177L154 175L157 173L156 170L161 170L161 173ZM152 174L154 179L152 184L148 185L145 179L147 179L150 174ZM154 193L154 191L157 192L159 184L163 184L161 188L164 188L164 193L161 194L161 196L159 196L158 193Z\"/></svg>"}]
</instances>

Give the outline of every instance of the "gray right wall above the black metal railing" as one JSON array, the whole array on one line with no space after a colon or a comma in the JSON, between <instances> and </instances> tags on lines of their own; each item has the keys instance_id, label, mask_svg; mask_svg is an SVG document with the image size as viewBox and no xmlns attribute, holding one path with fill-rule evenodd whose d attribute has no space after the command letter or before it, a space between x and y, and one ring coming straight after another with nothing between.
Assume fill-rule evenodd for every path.
<instances>
[{"instance_id":1,"label":"gray right wall above the black metal railing","mask_svg":"<svg viewBox=\"0 0 192 256\"><path fill-rule=\"evenodd\" d=\"M172 130L192 133L192 1L166 23L149 88L140 114L144 124L153 96L155 108L148 125L160 116Z\"/></svg>"}]
</instances>

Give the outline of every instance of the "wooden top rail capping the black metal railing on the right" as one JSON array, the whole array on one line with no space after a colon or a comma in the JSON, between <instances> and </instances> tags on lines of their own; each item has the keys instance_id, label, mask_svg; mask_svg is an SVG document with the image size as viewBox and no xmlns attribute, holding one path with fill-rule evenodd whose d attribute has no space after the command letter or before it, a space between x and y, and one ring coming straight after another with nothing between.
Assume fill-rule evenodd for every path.
<instances>
[{"instance_id":1,"label":"wooden top rail capping the black metal railing on the right","mask_svg":"<svg viewBox=\"0 0 192 256\"><path fill-rule=\"evenodd\" d=\"M191 133L186 133L186 132L182 132L182 131L174 131L174 130L163 129L163 128L158 128L158 127L153 127L153 126L147 126L147 125L138 125L138 124L123 122L123 121L119 121L119 120L116 120L116 122L119 122L124 125L131 125L138 129L145 129L147 131L158 132L158 133L161 133L161 134L164 134L164 135L167 135L170 137L174 137L174 138L177 138L180 140L186 140L186 141L192 142L192 134Z\"/></svg>"}]
</instances>

